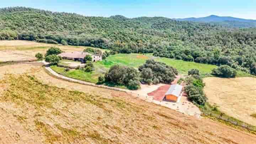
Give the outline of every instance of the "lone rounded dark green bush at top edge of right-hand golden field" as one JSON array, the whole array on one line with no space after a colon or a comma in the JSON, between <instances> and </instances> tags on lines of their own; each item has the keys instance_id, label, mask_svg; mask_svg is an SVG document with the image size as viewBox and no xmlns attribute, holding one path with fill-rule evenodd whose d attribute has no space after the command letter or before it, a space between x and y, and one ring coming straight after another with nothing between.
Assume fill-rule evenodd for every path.
<instances>
[{"instance_id":1,"label":"lone rounded dark green bush at top edge of right-hand golden field","mask_svg":"<svg viewBox=\"0 0 256 144\"><path fill-rule=\"evenodd\" d=\"M236 70L228 65L221 65L218 68L213 69L212 74L224 78L234 78L236 76Z\"/></svg>"}]
</instances>

